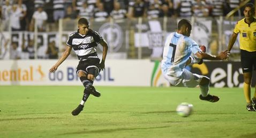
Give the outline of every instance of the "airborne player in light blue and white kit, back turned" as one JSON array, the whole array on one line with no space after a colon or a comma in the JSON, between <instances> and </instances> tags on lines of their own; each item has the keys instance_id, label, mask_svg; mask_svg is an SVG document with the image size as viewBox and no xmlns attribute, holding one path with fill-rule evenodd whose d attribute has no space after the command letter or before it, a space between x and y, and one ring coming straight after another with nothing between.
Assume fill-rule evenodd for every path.
<instances>
[{"instance_id":1,"label":"airborne player in light blue and white kit, back turned","mask_svg":"<svg viewBox=\"0 0 256 138\"><path fill-rule=\"evenodd\" d=\"M161 63L163 76L174 86L196 87L199 85L201 100L217 102L220 98L208 92L210 79L207 76L191 73L185 66L199 63L201 59L223 60L229 56L229 52L223 51L218 56L202 52L199 45L189 37L191 29L190 21L182 19L178 22L178 31L167 36Z\"/></svg>"}]
</instances>

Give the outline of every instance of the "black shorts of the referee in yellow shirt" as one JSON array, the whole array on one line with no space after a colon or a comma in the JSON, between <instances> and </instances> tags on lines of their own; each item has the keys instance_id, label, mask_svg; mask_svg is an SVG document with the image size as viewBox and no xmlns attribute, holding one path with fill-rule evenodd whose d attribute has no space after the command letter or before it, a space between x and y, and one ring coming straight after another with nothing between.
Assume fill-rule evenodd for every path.
<instances>
[{"instance_id":1,"label":"black shorts of the referee in yellow shirt","mask_svg":"<svg viewBox=\"0 0 256 138\"><path fill-rule=\"evenodd\" d=\"M241 66L243 73L252 72L253 67L256 70L256 51L249 52L241 49Z\"/></svg>"}]
</instances>

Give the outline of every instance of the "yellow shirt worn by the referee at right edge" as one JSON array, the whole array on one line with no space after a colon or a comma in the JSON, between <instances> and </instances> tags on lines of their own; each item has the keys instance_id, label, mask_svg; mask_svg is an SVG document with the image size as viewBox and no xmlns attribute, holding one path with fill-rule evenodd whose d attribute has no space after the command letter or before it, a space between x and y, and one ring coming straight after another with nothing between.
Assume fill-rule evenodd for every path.
<instances>
[{"instance_id":1,"label":"yellow shirt worn by the referee at right edge","mask_svg":"<svg viewBox=\"0 0 256 138\"><path fill-rule=\"evenodd\" d=\"M240 33L240 49L249 52L256 51L256 19L249 25L245 18L239 20L235 26L234 33Z\"/></svg>"}]
</instances>

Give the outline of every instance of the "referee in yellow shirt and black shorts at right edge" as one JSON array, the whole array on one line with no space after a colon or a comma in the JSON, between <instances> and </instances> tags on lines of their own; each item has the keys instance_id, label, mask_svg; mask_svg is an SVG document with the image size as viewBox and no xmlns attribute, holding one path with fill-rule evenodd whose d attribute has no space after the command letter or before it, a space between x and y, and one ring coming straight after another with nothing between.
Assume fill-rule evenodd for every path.
<instances>
[{"instance_id":1,"label":"referee in yellow shirt and black shorts at right edge","mask_svg":"<svg viewBox=\"0 0 256 138\"><path fill-rule=\"evenodd\" d=\"M245 18L237 22L228 44L228 51L230 51L236 42L238 33L240 33L240 58L244 76L244 96L248 111L256 111L256 88L251 100L253 66L254 70L256 69L256 19L253 17L254 14L254 5L247 3L244 8Z\"/></svg>"}]
</instances>

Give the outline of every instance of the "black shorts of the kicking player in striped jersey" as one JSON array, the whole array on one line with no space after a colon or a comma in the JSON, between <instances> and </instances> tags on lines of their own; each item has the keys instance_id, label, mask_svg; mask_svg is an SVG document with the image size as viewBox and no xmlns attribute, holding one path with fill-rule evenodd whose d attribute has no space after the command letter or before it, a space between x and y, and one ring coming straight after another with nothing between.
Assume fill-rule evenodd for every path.
<instances>
[{"instance_id":1,"label":"black shorts of the kicking player in striped jersey","mask_svg":"<svg viewBox=\"0 0 256 138\"><path fill-rule=\"evenodd\" d=\"M94 77L99 75L100 73L100 59L99 58L89 58L87 60L80 60L77 66L77 74L78 71L85 72L86 74L92 74Z\"/></svg>"}]
</instances>

